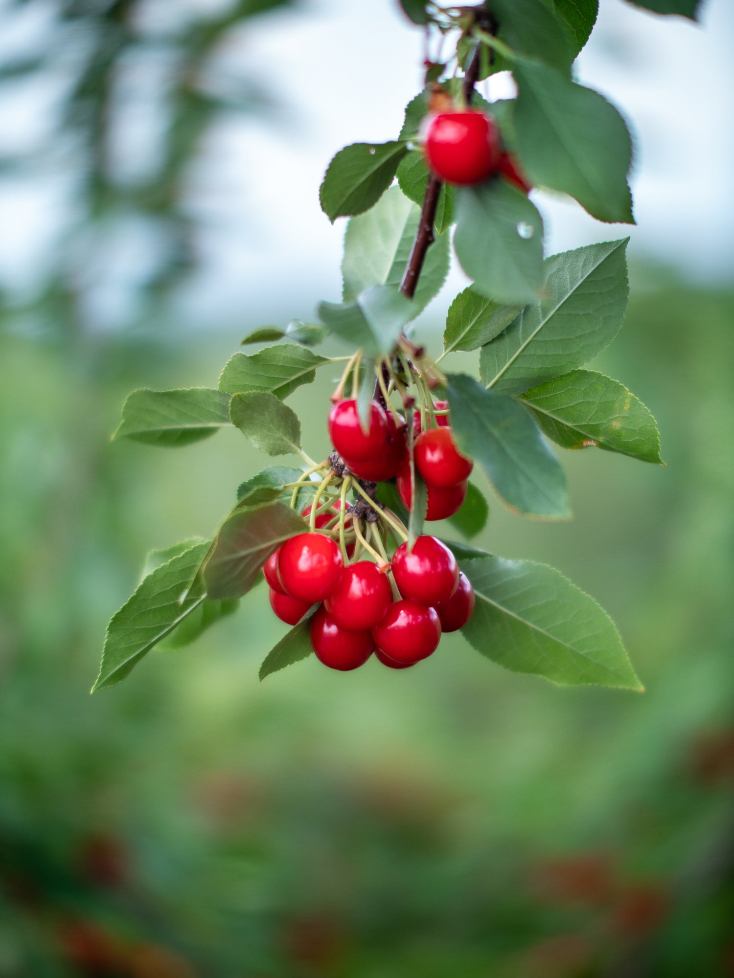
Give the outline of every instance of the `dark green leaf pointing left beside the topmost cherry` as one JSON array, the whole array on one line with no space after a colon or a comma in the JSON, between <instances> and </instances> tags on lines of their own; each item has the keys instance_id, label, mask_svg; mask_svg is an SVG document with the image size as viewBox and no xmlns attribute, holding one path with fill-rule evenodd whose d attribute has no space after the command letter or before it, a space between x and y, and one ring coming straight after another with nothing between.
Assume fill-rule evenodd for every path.
<instances>
[{"instance_id":1,"label":"dark green leaf pointing left beside the topmost cherry","mask_svg":"<svg viewBox=\"0 0 734 978\"><path fill-rule=\"evenodd\" d=\"M361 214L377 203L407 152L400 142L354 143L340 150L329 163L319 190L321 209L332 224L338 217Z\"/></svg>"}]
</instances>

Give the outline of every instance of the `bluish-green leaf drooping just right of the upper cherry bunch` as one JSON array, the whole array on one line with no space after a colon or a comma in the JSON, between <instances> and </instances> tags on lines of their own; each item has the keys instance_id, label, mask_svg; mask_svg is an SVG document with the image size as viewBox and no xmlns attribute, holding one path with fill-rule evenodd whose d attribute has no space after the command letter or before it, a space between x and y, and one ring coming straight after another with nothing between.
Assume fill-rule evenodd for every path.
<instances>
[{"instance_id":1,"label":"bluish-green leaf drooping just right of the upper cherry bunch","mask_svg":"<svg viewBox=\"0 0 734 978\"><path fill-rule=\"evenodd\" d=\"M528 411L464 374L447 375L451 430L503 502L527 516L571 515L563 467Z\"/></svg>"}]
</instances>

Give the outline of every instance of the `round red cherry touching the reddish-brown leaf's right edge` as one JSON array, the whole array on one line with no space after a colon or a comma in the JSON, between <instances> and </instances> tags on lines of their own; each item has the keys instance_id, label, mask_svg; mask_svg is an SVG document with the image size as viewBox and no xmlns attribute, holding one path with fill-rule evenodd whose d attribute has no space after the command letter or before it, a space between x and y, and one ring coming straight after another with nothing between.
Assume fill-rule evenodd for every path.
<instances>
[{"instance_id":1,"label":"round red cherry touching the reddish-brown leaf's right edge","mask_svg":"<svg viewBox=\"0 0 734 978\"><path fill-rule=\"evenodd\" d=\"M342 552L323 533L298 533L286 540L278 555L278 575L291 598L322 601L339 580Z\"/></svg>"}]
</instances>

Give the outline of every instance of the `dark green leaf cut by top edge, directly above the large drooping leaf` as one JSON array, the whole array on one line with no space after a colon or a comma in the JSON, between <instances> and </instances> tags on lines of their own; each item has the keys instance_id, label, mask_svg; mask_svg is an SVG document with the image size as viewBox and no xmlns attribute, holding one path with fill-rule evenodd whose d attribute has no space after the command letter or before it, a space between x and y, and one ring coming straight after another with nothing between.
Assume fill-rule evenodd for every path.
<instances>
[{"instance_id":1,"label":"dark green leaf cut by top edge, directly above the large drooping leaf","mask_svg":"<svg viewBox=\"0 0 734 978\"><path fill-rule=\"evenodd\" d=\"M544 0L488 0L500 24L498 37L513 52L568 71L573 62L571 32Z\"/></svg>"}]
</instances>

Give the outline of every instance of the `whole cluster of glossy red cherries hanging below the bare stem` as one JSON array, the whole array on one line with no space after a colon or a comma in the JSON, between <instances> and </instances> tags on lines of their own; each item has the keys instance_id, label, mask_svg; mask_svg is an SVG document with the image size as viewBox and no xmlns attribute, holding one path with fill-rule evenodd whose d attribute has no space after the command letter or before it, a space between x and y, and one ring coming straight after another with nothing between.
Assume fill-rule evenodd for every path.
<instances>
[{"instance_id":1,"label":"whole cluster of glossy red cherries hanging below the bare stem","mask_svg":"<svg viewBox=\"0 0 734 978\"><path fill-rule=\"evenodd\" d=\"M445 409L436 402L436 411ZM425 431L420 430L420 415L415 418L413 457L428 486L427 519L442 519L463 503L473 463L457 450L446 415L437 415L439 426ZM349 398L333 407L329 431L344 463L343 477L367 482L395 477L403 503L410 508L404 422L373 401L364 430L356 402ZM353 508L344 505L344 521L353 519ZM310 620L311 645L332 669L356 669L373 652L391 669L406 669L436 651L442 632L466 625L474 611L474 589L448 547L432 536L418 537L411 550L401 543L390 562L345 563L338 541L325 531L340 517L342 507L341 498L319 506L314 531L287 540L267 560L263 574L270 586L270 605L282 621L296 625L319 603ZM379 514L379 504L374 507ZM302 515L310 517L311 509L306 507ZM345 553L353 556L353 543Z\"/></svg>"}]
</instances>

